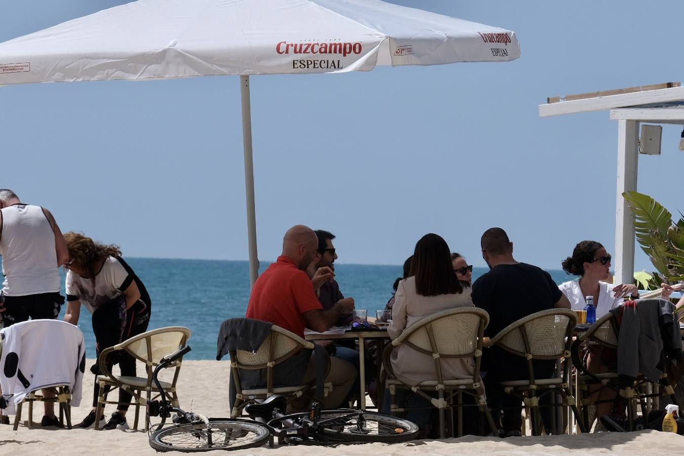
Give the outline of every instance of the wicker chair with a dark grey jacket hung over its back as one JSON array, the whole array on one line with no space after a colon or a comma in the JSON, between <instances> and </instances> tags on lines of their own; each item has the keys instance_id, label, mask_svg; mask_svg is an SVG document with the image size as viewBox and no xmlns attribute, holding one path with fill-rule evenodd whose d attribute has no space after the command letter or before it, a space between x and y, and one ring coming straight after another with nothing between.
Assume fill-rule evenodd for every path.
<instances>
[{"instance_id":1,"label":"wicker chair with a dark grey jacket hung over its back","mask_svg":"<svg viewBox=\"0 0 684 456\"><path fill-rule=\"evenodd\" d=\"M616 317L612 312L608 312L600 319L596 320L596 323L591 325L589 329L580 334L575 342L573 343L571 352L573 356L573 364L577 369L577 384L579 386L581 394L581 410L584 426L589 429L592 423L590 423L589 416L589 405L591 403L604 403L607 401L591 401L589 393L589 387L591 385L600 385L598 390L603 390L604 388L610 388L620 394L620 396L627 399L627 418L629 420L630 430L633 431L633 418L636 414L637 404L641 406L642 415L648 416L647 401L653 397L669 396L674 398L674 389L670 386L667 374L663 374L659 386L663 388L653 388L653 383L648 381L645 377L640 375L635 380L631 388L620 389L618 386L618 373L616 370L609 371L607 373L592 373L587 364L586 358L582 356L581 347L583 345L602 347L605 349L611 349L617 352L618 350L618 336L620 334L620 328L616 321ZM617 356L617 353L616 353ZM652 392L656 390L657 392ZM596 391L592 392L596 394ZM674 400L674 399L673 399ZM609 399L610 402L613 399Z\"/></svg>"}]
</instances>

